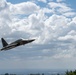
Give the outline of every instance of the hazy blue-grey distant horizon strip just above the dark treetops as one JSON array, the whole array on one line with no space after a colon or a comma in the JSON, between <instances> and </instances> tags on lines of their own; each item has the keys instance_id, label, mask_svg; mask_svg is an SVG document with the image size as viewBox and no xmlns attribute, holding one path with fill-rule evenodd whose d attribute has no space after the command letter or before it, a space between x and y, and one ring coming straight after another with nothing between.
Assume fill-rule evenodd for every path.
<instances>
[{"instance_id":1,"label":"hazy blue-grey distant horizon strip just above the dark treetops","mask_svg":"<svg viewBox=\"0 0 76 75\"><path fill-rule=\"evenodd\" d=\"M67 70L63 69L5 69L0 70L0 74L57 74L57 73L65 73Z\"/></svg>"}]
</instances>

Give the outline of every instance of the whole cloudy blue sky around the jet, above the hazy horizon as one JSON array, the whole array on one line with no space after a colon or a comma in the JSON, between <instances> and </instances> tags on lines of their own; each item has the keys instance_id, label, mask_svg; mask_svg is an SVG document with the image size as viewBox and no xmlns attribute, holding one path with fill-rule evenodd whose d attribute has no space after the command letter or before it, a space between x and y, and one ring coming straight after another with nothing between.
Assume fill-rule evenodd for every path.
<instances>
[{"instance_id":1,"label":"whole cloudy blue sky around the jet, above the hazy horizon","mask_svg":"<svg viewBox=\"0 0 76 75\"><path fill-rule=\"evenodd\" d=\"M0 69L76 69L75 3L1 0L0 38L8 43L20 38L36 40L0 52Z\"/></svg>"}]
</instances>

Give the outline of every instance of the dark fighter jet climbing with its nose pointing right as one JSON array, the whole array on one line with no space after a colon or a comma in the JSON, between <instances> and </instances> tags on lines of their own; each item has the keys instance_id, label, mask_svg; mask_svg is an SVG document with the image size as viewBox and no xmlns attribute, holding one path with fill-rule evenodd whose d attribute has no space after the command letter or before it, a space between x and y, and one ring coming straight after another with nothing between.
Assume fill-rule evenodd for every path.
<instances>
[{"instance_id":1,"label":"dark fighter jet climbing with its nose pointing right","mask_svg":"<svg viewBox=\"0 0 76 75\"><path fill-rule=\"evenodd\" d=\"M25 44L28 44L28 43L31 43L33 42L35 39L31 39L31 40L24 40L24 39L19 39L19 40L16 40L15 42L12 42L10 44L8 44L4 38L1 38L1 41L2 41L2 44L3 44L3 48L0 49L0 51L2 50L9 50L9 49L12 49L12 48L15 48L17 46L20 46L20 45L25 45Z\"/></svg>"}]
</instances>

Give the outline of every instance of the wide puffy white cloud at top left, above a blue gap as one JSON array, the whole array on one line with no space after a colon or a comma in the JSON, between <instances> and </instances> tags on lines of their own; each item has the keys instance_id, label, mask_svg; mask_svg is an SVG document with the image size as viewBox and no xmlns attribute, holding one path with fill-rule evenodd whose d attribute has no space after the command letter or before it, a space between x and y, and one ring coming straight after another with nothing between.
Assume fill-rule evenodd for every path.
<instances>
[{"instance_id":1,"label":"wide puffy white cloud at top left, above a blue gap","mask_svg":"<svg viewBox=\"0 0 76 75\"><path fill-rule=\"evenodd\" d=\"M31 14L37 12L39 6L33 2L23 2L19 4L11 4L10 10L13 14Z\"/></svg>"}]
</instances>

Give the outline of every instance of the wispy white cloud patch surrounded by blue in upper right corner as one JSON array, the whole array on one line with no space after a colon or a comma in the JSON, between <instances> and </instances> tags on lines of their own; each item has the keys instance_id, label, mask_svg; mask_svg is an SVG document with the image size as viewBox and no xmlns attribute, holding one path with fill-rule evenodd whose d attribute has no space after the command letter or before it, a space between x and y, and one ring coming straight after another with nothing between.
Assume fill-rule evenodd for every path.
<instances>
[{"instance_id":1,"label":"wispy white cloud patch surrounded by blue in upper right corner","mask_svg":"<svg viewBox=\"0 0 76 75\"><path fill-rule=\"evenodd\" d=\"M49 7L53 10L53 13L56 14L62 14L65 16L74 16L75 13L72 12L73 9L71 9L68 5L65 3L56 3L56 2L49 2Z\"/></svg>"}]
</instances>

